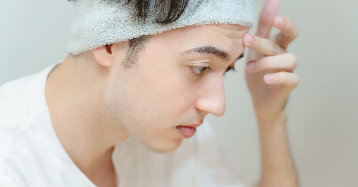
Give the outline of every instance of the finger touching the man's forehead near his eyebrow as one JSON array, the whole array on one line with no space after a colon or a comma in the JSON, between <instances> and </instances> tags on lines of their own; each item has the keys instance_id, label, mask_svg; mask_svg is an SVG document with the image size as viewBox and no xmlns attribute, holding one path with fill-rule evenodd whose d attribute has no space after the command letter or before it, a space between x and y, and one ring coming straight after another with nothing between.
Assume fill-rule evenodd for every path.
<instances>
[{"instance_id":1,"label":"finger touching the man's forehead near his eyebrow","mask_svg":"<svg viewBox=\"0 0 358 187\"><path fill-rule=\"evenodd\" d=\"M271 42L269 39L261 38L256 35L246 33L242 38L242 44L244 47L248 47L263 56L272 56L277 54L286 53L279 45Z\"/></svg>"}]
</instances>

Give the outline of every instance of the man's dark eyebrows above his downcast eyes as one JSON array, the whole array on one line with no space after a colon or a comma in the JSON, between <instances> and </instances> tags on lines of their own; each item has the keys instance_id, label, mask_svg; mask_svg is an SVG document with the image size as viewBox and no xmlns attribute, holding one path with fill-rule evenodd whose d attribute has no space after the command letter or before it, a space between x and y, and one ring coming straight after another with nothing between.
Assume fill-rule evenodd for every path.
<instances>
[{"instance_id":1,"label":"man's dark eyebrows above his downcast eyes","mask_svg":"<svg viewBox=\"0 0 358 187\"><path fill-rule=\"evenodd\" d=\"M231 57L229 55L228 52L219 49L216 46L213 45L205 45L202 47L194 47L192 49L189 49L187 51L183 51L181 52L184 55L190 55L190 54L209 54L209 55L213 55L216 57L221 58L223 61L230 61ZM244 57L244 52L235 60L237 61L238 59Z\"/></svg>"}]
</instances>

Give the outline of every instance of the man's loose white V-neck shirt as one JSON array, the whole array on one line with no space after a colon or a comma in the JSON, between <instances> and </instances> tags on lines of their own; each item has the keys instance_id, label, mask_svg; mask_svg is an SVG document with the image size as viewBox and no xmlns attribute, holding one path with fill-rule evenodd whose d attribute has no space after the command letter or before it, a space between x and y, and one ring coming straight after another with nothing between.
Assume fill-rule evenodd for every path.
<instances>
[{"instance_id":1,"label":"man's loose white V-neck shirt","mask_svg":"<svg viewBox=\"0 0 358 187\"><path fill-rule=\"evenodd\" d=\"M62 147L45 100L49 72L0 87L0 186L96 187ZM170 153L155 153L133 136L116 145L118 187L245 187L238 167L214 139L208 123Z\"/></svg>"}]
</instances>

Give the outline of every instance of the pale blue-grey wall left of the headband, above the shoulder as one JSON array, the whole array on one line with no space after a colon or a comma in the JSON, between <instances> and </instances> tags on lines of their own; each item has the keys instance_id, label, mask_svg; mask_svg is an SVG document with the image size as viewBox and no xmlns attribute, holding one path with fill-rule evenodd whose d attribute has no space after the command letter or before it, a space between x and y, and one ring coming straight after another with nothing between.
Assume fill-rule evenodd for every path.
<instances>
[{"instance_id":1,"label":"pale blue-grey wall left of the headband, above the shoulder","mask_svg":"<svg viewBox=\"0 0 358 187\"><path fill-rule=\"evenodd\" d=\"M72 3L4 0L0 4L0 85L67 56Z\"/></svg>"}]
</instances>

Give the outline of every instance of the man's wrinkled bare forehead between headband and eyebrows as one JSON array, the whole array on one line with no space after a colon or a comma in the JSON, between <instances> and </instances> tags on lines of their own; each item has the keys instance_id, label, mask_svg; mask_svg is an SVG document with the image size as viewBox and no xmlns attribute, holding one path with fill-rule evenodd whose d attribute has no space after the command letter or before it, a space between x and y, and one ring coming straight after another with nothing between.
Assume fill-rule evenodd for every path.
<instances>
[{"instance_id":1,"label":"man's wrinkled bare forehead between headband and eyebrows","mask_svg":"<svg viewBox=\"0 0 358 187\"><path fill-rule=\"evenodd\" d=\"M161 45L176 51L214 45L237 58L244 49L242 37L249 29L237 24L204 24L165 31L154 37Z\"/></svg>"}]
</instances>

